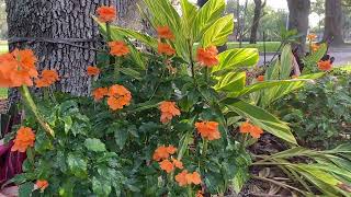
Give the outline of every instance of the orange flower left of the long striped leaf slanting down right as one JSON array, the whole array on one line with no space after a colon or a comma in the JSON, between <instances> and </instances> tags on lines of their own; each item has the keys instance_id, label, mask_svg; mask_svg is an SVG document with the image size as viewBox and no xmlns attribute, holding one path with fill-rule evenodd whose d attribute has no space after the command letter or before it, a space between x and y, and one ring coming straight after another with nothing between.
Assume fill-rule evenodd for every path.
<instances>
[{"instance_id":1,"label":"orange flower left of the long striped leaf slanting down right","mask_svg":"<svg viewBox=\"0 0 351 197\"><path fill-rule=\"evenodd\" d=\"M201 137L207 140L216 140L220 138L220 132L218 131L218 123L216 121L201 121L195 123L195 127Z\"/></svg>"}]
</instances>

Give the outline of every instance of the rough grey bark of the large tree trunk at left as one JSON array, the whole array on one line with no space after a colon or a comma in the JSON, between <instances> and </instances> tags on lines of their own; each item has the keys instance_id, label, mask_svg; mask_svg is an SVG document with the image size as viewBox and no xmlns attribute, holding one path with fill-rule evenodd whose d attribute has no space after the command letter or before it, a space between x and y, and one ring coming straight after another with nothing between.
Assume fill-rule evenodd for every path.
<instances>
[{"instance_id":1,"label":"rough grey bark of the large tree trunk at left","mask_svg":"<svg viewBox=\"0 0 351 197\"><path fill-rule=\"evenodd\" d=\"M38 57L38 70L55 69L60 81L55 89L72 95L90 94L91 79L87 67L95 63L101 39L91 15L100 5L116 5L117 23L133 26L136 21L137 0L5 0L10 49L32 48ZM16 37L45 37L75 39L70 42L84 48L67 44L46 42L14 42ZM12 92L12 93L11 93ZM15 95L13 91L11 95ZM11 100L11 97L10 97Z\"/></svg>"}]
</instances>

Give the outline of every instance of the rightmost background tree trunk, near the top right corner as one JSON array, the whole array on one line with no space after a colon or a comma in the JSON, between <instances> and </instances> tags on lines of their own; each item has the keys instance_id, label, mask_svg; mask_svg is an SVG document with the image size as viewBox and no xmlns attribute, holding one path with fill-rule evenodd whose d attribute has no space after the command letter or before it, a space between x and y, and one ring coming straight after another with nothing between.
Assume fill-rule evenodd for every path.
<instances>
[{"instance_id":1,"label":"rightmost background tree trunk, near the top right corner","mask_svg":"<svg viewBox=\"0 0 351 197\"><path fill-rule=\"evenodd\" d=\"M325 3L326 19L322 39L331 45L342 45L344 42L341 0L326 0Z\"/></svg>"}]
</instances>

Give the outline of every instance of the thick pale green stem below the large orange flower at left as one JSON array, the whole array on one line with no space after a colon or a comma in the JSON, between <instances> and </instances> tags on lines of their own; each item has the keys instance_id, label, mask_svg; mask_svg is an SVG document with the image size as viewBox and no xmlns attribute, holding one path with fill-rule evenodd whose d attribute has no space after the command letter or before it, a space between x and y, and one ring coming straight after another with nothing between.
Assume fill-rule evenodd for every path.
<instances>
[{"instance_id":1,"label":"thick pale green stem below the large orange flower at left","mask_svg":"<svg viewBox=\"0 0 351 197\"><path fill-rule=\"evenodd\" d=\"M52 129L52 127L45 123L44 118L42 117L39 111L37 109L33 99L32 99L32 95L30 93L30 90L27 86L25 85L22 85L20 88L20 92L23 96L23 101L24 103L27 105L27 107L33 112L36 120L41 124L41 126L43 127L43 129L48 132L50 136L55 137L55 131Z\"/></svg>"}]
</instances>

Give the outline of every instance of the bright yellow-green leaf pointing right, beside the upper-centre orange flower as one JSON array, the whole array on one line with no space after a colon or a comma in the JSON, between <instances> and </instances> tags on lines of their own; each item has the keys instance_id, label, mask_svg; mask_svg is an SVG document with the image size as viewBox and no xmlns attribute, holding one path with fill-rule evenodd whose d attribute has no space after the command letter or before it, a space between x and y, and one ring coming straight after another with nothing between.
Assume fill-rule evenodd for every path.
<instances>
[{"instance_id":1,"label":"bright yellow-green leaf pointing right, beside the upper-centre orange flower","mask_svg":"<svg viewBox=\"0 0 351 197\"><path fill-rule=\"evenodd\" d=\"M238 67L252 67L259 61L257 48L229 49L218 55L219 65L213 67L212 72L233 71Z\"/></svg>"}]
</instances>

